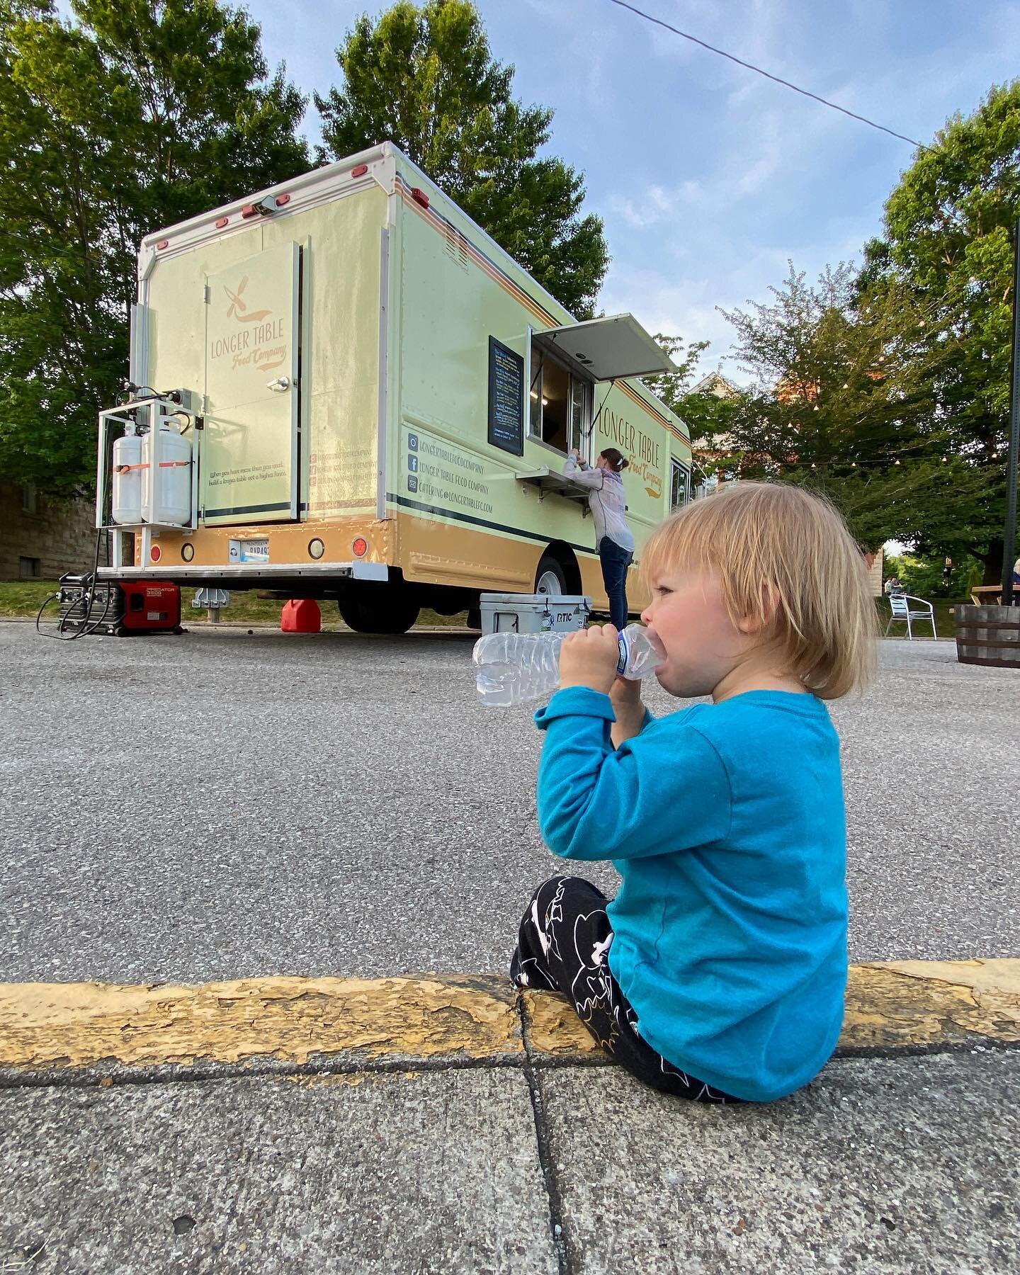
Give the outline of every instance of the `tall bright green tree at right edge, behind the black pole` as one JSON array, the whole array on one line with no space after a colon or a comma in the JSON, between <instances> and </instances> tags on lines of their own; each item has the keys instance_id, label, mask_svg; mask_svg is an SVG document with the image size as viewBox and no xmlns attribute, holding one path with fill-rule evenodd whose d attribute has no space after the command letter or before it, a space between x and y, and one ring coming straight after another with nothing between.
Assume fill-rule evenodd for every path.
<instances>
[{"instance_id":1,"label":"tall bright green tree at right edge, behind the black pole","mask_svg":"<svg viewBox=\"0 0 1020 1275\"><path fill-rule=\"evenodd\" d=\"M931 393L958 472L972 552L998 579L1005 521L1012 317L1012 232L1020 217L1020 80L954 116L889 196L885 237L867 245L866 288L909 289L932 368ZM973 482L964 484L972 501ZM954 501L956 504L956 501ZM941 520L929 541L941 547Z\"/></svg>"}]
</instances>

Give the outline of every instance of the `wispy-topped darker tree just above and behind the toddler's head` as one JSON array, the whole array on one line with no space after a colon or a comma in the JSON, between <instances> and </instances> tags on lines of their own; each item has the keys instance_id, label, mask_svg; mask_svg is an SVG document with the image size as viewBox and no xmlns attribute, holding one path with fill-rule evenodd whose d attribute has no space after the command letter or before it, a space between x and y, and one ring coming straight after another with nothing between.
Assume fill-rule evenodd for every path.
<instances>
[{"instance_id":1,"label":"wispy-topped darker tree just above and behind the toddler's head","mask_svg":"<svg viewBox=\"0 0 1020 1275\"><path fill-rule=\"evenodd\" d=\"M927 342L913 289L864 284L841 264L815 284L790 265L771 292L727 314L755 379L731 403L740 474L825 491L867 548L898 538L959 555L987 542L994 499L937 411L949 354Z\"/></svg>"}]
</instances>

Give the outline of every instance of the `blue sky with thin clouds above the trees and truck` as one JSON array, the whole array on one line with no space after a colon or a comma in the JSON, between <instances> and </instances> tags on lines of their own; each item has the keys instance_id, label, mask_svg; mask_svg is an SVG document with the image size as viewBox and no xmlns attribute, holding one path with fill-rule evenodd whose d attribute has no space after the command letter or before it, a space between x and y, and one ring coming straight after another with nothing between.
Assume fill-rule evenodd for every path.
<instances>
[{"instance_id":1,"label":"blue sky with thin clouds above the trees and truck","mask_svg":"<svg viewBox=\"0 0 1020 1275\"><path fill-rule=\"evenodd\" d=\"M609 0L477 0L515 92L553 107L550 150L606 222L606 312L709 339L718 307L766 300L787 259L858 258L913 149L655 28ZM634 0L666 22L908 136L931 139L1020 73L1015 0ZM311 97L353 19L385 5L247 0L270 65ZM319 139L310 105L305 133ZM731 361L723 372L742 379Z\"/></svg>"}]
</instances>

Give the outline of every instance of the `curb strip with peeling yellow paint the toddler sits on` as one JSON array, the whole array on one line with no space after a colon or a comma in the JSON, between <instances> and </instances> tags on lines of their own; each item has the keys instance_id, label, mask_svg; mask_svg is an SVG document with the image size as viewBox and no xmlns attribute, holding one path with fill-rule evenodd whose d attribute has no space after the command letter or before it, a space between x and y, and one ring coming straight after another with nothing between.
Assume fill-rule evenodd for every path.
<instances>
[{"instance_id":1,"label":"curb strip with peeling yellow paint the toddler sits on","mask_svg":"<svg viewBox=\"0 0 1020 1275\"><path fill-rule=\"evenodd\" d=\"M1020 1043L1020 960L850 966L838 1056ZM0 1085L608 1063L499 975L0 984Z\"/></svg>"}]
</instances>

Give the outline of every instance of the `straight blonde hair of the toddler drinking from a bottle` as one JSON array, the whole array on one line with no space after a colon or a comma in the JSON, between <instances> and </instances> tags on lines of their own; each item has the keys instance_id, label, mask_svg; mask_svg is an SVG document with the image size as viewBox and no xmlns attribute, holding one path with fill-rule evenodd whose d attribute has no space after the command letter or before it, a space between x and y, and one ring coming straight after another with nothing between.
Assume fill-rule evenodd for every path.
<instances>
[{"instance_id":1,"label":"straight blonde hair of the toddler drinking from a bottle","mask_svg":"<svg viewBox=\"0 0 1020 1275\"><path fill-rule=\"evenodd\" d=\"M646 584L663 569L717 575L736 623L822 700L875 671L877 613L861 548L839 513L793 483L740 482L696 500L655 529L641 553Z\"/></svg>"}]
</instances>

